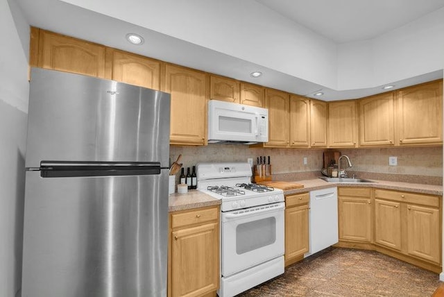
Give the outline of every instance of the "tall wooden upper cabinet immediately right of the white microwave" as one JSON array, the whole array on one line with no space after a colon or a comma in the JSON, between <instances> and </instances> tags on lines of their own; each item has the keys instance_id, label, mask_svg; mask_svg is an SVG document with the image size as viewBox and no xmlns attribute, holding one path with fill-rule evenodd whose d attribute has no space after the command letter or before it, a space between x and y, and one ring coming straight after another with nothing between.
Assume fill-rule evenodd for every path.
<instances>
[{"instance_id":1,"label":"tall wooden upper cabinet immediately right of the white microwave","mask_svg":"<svg viewBox=\"0 0 444 297\"><path fill-rule=\"evenodd\" d=\"M266 89L268 108L268 142L264 146L289 146L290 97L288 93Z\"/></svg>"}]
</instances>

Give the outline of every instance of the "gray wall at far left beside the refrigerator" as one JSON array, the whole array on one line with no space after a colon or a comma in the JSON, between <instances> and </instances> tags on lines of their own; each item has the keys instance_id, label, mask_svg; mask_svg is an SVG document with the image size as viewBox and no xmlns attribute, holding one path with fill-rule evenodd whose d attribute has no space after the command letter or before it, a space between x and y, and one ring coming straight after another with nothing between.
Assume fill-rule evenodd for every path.
<instances>
[{"instance_id":1,"label":"gray wall at far left beside the refrigerator","mask_svg":"<svg viewBox=\"0 0 444 297\"><path fill-rule=\"evenodd\" d=\"M0 297L22 282L24 155L29 26L14 0L0 0Z\"/></svg>"}]
</instances>

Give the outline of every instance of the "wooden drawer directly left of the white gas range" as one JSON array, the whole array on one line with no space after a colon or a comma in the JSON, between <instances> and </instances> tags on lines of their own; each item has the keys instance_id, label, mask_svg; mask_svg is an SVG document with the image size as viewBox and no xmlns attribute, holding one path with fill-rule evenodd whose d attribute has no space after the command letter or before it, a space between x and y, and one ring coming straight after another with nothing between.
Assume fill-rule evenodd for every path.
<instances>
[{"instance_id":1,"label":"wooden drawer directly left of the white gas range","mask_svg":"<svg viewBox=\"0 0 444 297\"><path fill-rule=\"evenodd\" d=\"M198 208L187 212L171 214L171 228L178 228L206 221L217 221L219 218L219 208Z\"/></svg>"}]
</instances>

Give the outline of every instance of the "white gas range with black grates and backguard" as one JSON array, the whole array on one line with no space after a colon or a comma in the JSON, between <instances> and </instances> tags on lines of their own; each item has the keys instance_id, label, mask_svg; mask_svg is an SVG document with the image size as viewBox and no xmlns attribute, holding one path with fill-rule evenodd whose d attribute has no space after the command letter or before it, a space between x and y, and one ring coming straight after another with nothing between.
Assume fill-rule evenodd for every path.
<instances>
[{"instance_id":1,"label":"white gas range with black grates and backguard","mask_svg":"<svg viewBox=\"0 0 444 297\"><path fill-rule=\"evenodd\" d=\"M251 184L248 163L199 163L198 190L221 199L220 297L284 273L284 192Z\"/></svg>"}]
</instances>

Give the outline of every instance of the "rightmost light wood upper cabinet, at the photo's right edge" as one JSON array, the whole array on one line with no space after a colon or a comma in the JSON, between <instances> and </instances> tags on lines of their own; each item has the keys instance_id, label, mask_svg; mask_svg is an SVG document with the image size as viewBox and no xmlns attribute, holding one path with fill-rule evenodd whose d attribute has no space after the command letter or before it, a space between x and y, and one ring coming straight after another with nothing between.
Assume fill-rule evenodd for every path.
<instances>
[{"instance_id":1,"label":"rightmost light wood upper cabinet, at the photo's right edge","mask_svg":"<svg viewBox=\"0 0 444 297\"><path fill-rule=\"evenodd\" d=\"M397 92L400 145L443 143L443 80Z\"/></svg>"}]
</instances>

